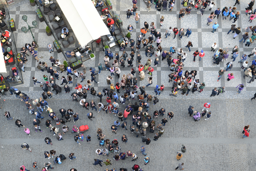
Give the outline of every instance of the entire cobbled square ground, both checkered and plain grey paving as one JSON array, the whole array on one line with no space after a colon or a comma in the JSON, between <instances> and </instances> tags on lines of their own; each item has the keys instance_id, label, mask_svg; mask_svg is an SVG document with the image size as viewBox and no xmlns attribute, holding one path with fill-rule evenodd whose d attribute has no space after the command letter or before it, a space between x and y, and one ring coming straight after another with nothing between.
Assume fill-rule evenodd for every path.
<instances>
[{"instance_id":1,"label":"entire cobbled square ground, both checkered and plain grey paving","mask_svg":"<svg viewBox=\"0 0 256 171\"><path fill-rule=\"evenodd\" d=\"M233 6L234 1L216 1L217 7L215 6L213 10L216 8L223 8L225 6ZM48 118L47 114L44 112L42 116L45 116L45 119L42 120L41 123L41 132L35 133L33 130L32 120L35 116L31 116L26 109L26 106L22 101L17 99L14 95L10 96L9 92L8 96L2 96L0 99L0 103L2 104L2 109L0 109L0 113L2 116L0 119L2 120L2 124L0 126L0 155L2 156L2 164L0 165L0 170L17 170L19 166L25 165L26 168L33 170L32 163L37 161L39 167L46 161L50 161L53 163L53 158L45 159L44 151L50 151L51 149L55 149L57 151L57 155L64 154L66 157L73 152L77 159L70 161L67 159L61 165L54 166L56 170L70 170L70 168L74 167L77 170L105 170L105 168L116 168L120 167L128 168L131 170L131 167L137 163L143 168L143 170L172 170L178 166L179 162L184 162L185 170L255 170L255 127L253 124L256 120L254 115L254 110L252 106L254 106L255 101L250 101L249 98L253 96L255 91L255 82L250 84L247 83L248 78L245 80L243 78L243 71L240 69L240 64L238 63L238 59L233 62L234 67L230 72L225 73L225 75L221 78L219 82L217 82L218 71L220 69L225 69L226 62L231 61L231 50L237 45L239 47L239 56L242 57L243 54L250 54L250 51L255 47L254 43L248 48L245 47L242 42L239 42L238 39L242 38L242 34L245 33L245 28L248 26L254 26L255 20L252 21L251 24L248 23L247 16L245 15L245 7L249 0L246 2L241 2L240 5L237 5L238 11L240 11L241 17L238 19L237 26L243 28L242 33L234 40L232 38L232 34L227 35L226 33L229 31L231 26L231 21L222 20L221 17L217 20L215 18L214 22L218 22L220 27L217 29L217 32L212 34L212 26L206 26L206 19L209 16L211 11L208 11L208 7L205 10L204 15L200 15L199 11L195 11L194 9L191 11L190 15L184 16L181 20L178 19L179 10L182 8L180 2L177 1L173 12L161 11L157 12L152 6L152 10L147 12L145 4L143 1L138 1L138 14L140 16L140 22L138 24L135 23L134 17L131 16L130 19L126 19L126 10L132 8L132 1L115 1L112 0L113 11L120 14L120 17L123 20L123 30L126 31L126 27L129 24L132 24L134 27L134 31L132 33L132 38L137 39L137 36L140 34L140 28L143 27L144 21L147 23L155 22L157 31L160 31L162 37L165 33L165 30L169 27L178 29L188 27L192 29L192 34L189 38L183 37L181 40L176 37L173 39L174 35L168 37L168 39L162 38L161 46L163 51L169 51L169 47L180 48L183 50L187 50L185 46L188 41L192 41L194 47L191 48L191 52L187 52L187 58L184 62L183 70L191 71L197 70L198 75L197 79L200 79L200 82L205 82L206 87L202 93L189 93L188 96L182 96L180 93L177 97L170 97L170 89L172 84L168 83L167 75L170 73L169 68L167 66L166 61L161 61L157 67L154 67L153 73L153 81L154 84L146 88L148 94L154 94L154 88L156 84L164 84L165 90L158 96L160 102L156 105L151 104L150 114L152 115L155 110L159 110L164 107L166 112L173 111L175 117L172 121L168 120L165 126L164 135L158 140L153 141L154 135L149 133L147 130L147 136L151 138L152 142L150 145L146 145L146 153L150 156L151 161L148 165L143 164L143 155L140 154L140 146L145 145L141 142L141 138L136 138L132 133L128 130L118 129L117 134L112 134L110 131L110 125L113 124L115 120L118 120L116 116L113 114L105 114L104 112L96 113L94 111L95 118L93 121L89 120L86 117L86 114L90 111L84 111L81 108L79 103L73 102L70 100L70 95L74 91L75 85L77 82L80 82L81 79L73 79L73 84L69 84L71 88L71 92L68 94L62 93L58 95L53 95L53 99L48 99L50 107L56 111L57 116L60 116L58 110L66 106L65 109L71 108L74 112L79 113L79 121L75 123L77 126L82 124L88 124L90 129L88 132L84 133L84 135L91 135L92 142L82 142L79 146L73 139L72 133L67 133L63 135L63 141L56 141L56 138L52 133L47 130L45 127L45 121ZM59 7L58 7L59 8ZM32 32L39 44L38 48L38 56L42 56L43 58L40 61L45 61L50 66L51 63L49 61L49 57L52 55L55 59L59 59L61 63L65 58L61 53L57 53L56 51L53 54L49 54L47 49L47 44L54 40L53 36L46 36L45 28L46 24L44 22L40 23L39 19L35 16L36 7L31 7L28 1L22 1L20 3L13 4L9 7L10 17L14 18L15 24L17 27L17 31L14 32L14 37L16 40L16 46L19 50L26 43L31 43L32 37L30 33L23 33L21 28L26 26L25 22L22 20L23 15L28 16L28 23L33 20L37 20L38 27L32 29ZM159 20L161 15L165 17L163 28L160 29ZM63 16L63 14L62 14ZM64 17L64 16L63 16ZM65 17L64 17L65 19ZM67 21L65 20L65 23ZM70 34L74 36L71 27L68 25L68 29ZM251 33L249 33L250 35ZM149 33L146 34L146 37L149 36ZM75 37L75 36L74 36ZM223 47L224 49L227 47L229 49L229 58L227 61L221 62L220 65L212 65L212 55L213 52L210 52L210 46L213 42L217 42L218 48ZM78 42L74 45L71 45L69 48L66 48L65 51L73 50L75 47L78 47ZM156 44L153 44L156 46ZM98 63L103 63L104 52L102 51L102 45L94 46L94 53L96 55L95 61L87 60L83 62L83 64L87 67L86 80L90 79L90 67L95 67L96 71L98 71L97 65ZM144 48L141 48L141 56L142 56L142 64L144 65L145 61L148 58L153 59L152 57L146 57L144 53ZM196 62L193 62L193 52L196 50L203 50L205 52L205 57L199 61L198 58ZM114 47L111 48L113 53L119 53L119 48ZM128 47L125 51L130 54L131 49ZM135 55L135 58L137 53ZM39 81L42 81L42 75L46 74L48 77L50 74L46 72L39 71L36 66L37 62L35 59L31 58L31 55L28 57L29 61L25 65L25 73L23 74L25 83L17 86L19 90L25 92L30 96L30 98L38 98L41 96L41 88L39 84L34 85L32 81L32 77L35 76ZM249 64L251 64L252 59L248 59ZM136 59L133 62L134 69L136 72L136 77L138 78L138 62ZM127 63L125 63L127 65ZM102 65L103 66L103 65ZM8 69L8 67L7 67ZM57 69L57 68L54 68ZM59 69L57 69L59 70ZM8 70L11 72L11 70ZM79 69L81 71L81 69ZM130 72L130 68L121 68L121 74L127 74ZM231 81L226 80L226 75L228 73L234 73L234 79ZM11 73L7 73L5 76L10 75ZM64 75L67 77L66 73L60 74L60 77ZM100 84L93 84L95 90L97 92L102 92L102 89L106 87L106 77L110 75L109 71L105 71L103 66L103 71L101 74L97 75L97 80ZM138 81L138 86L145 86L147 84L146 78L142 81ZM119 82L120 79L117 76L114 77L113 83ZM57 84L60 84L60 80L56 80ZM85 81L83 81L85 83ZM245 85L244 91L241 94L237 94L236 86L239 83L243 83ZM226 92L216 96L209 97L210 92L214 87L225 86ZM123 91L121 91L123 92ZM139 93L139 92L138 92ZM5 99L5 101L4 101ZM94 100L96 103L99 102L99 98L95 98L92 95L88 94L87 101ZM243 100L240 100L243 99ZM105 99L103 100L103 104L105 104ZM134 101L130 101L134 103ZM187 108L189 105L194 105L195 110L201 110L203 108L203 104L205 102L211 103L210 111L212 112L212 117L205 121L201 119L199 122L195 122L189 115L187 114ZM127 102L126 102L127 105ZM126 105L120 105L119 111L124 110ZM7 121L3 116L5 111L10 111L11 116L15 119L20 119L22 123L28 127L31 131L31 136L27 136L24 132L23 128L19 128L14 124L14 121ZM165 115L166 116L166 115ZM155 119L157 123L161 122L161 118ZM131 116L127 119L127 125L131 125ZM250 136L247 139L242 139L242 130L244 125L250 124ZM55 124L54 124L55 125ZM74 125L73 122L68 122L67 126L71 127ZM62 125L57 125L57 127L61 127ZM96 139L96 129L97 127L101 127L103 133L107 138L113 140L116 138L122 148L122 152L126 152L127 150L131 150L133 153L138 155L139 159L136 162L132 162L131 158L126 159L124 161L114 161L113 154L109 157L97 156L95 153L96 149L99 148L98 140ZM61 131L60 131L61 132ZM121 142L121 136L125 134L127 135L129 141L127 144L123 144ZM44 142L45 137L50 137L53 141L53 145L46 145ZM27 142L31 148L32 153L27 151L23 151L20 147L20 144L23 142ZM187 147L187 152L183 154L183 158L180 161L176 160L177 152L180 151L181 144L184 144ZM18 154L18 155L17 155ZM98 158L101 160L105 160L106 158L112 160L112 166L94 166L92 165L93 159Z\"/></svg>"}]
</instances>

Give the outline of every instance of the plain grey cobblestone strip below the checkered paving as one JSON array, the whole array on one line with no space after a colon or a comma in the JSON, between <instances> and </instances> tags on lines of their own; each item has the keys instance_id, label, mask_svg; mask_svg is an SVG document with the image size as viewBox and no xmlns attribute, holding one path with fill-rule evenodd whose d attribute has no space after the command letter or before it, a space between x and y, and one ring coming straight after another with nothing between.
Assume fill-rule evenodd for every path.
<instances>
[{"instance_id":1,"label":"plain grey cobblestone strip below the checkered paving","mask_svg":"<svg viewBox=\"0 0 256 171\"><path fill-rule=\"evenodd\" d=\"M136 138L129 130L125 131L121 128L118 129L117 134L113 134L110 131L110 126L114 123L115 120L118 120L117 116L113 114L105 114L101 111L96 113L95 110L84 111L78 102L73 102L72 100L47 100L50 108L56 112L57 116L61 118L58 110L63 106L66 106L65 109L73 109L74 112L79 113L79 121L75 123L76 126L82 124L89 125L89 130L84 133L84 136L91 135L92 142L87 143L86 141L81 142L81 145L76 144L73 139L74 134L67 133L63 135L63 141L56 141L56 138L52 133L47 130L45 126L45 121L48 119L46 112L43 112L42 116L45 118L41 120L41 130L40 132L34 132L32 120L34 116L28 114L28 110L24 103L20 100L0 100L3 104L3 108L0 110L0 113L4 111L10 111L11 116L15 119L20 119L22 123L28 127L31 131L31 136L27 136L24 132L24 129L17 127L14 124L14 120L8 121L2 115L1 120L1 130L0 133L0 145L2 146L1 155L5 156L3 158L2 165L0 166L1 170L10 170L16 169L18 166L25 164L29 169L32 169L31 163L37 161L39 166L41 166L46 161L51 161L53 159L45 159L44 151L50 151L55 149L58 154L64 154L66 156L69 153L75 153L75 156L78 157L77 160L63 162L61 165L55 166L58 170L68 170L70 167L78 168L78 170L104 170L105 168L110 168L103 166L102 169L100 166L92 165L94 158L99 158L105 160L106 158L113 158L113 154L110 154L110 157L97 156L95 153L96 149L99 148L98 140L96 139L96 129L101 127L103 134L106 135L106 138L117 139L121 146L121 152L126 152L131 150L133 153L138 155L139 160L132 162L131 158L126 159L125 161L114 161L112 160L112 167L120 168L124 166L126 168L131 168L133 164L138 163L144 170L170 170L174 169L178 165L175 156L177 152L180 151L181 144L187 146L187 152L183 154L181 162L185 163L186 170L251 170L254 169L253 159L255 157L255 127L251 126L250 136L247 139L242 139L242 130L244 125L253 125L256 117L253 114L252 109L249 109L248 106L253 105L253 102L250 100L215 100L215 99L199 99L199 100L160 100L156 105L151 104L151 109L149 113L153 115L155 110L159 110L164 107L166 112L173 111L174 118L173 120L168 119L168 122L164 126L165 132L164 135L159 138L158 141L153 141L154 134L149 133L147 129L147 137L149 137L153 142L150 145L146 145L146 152L148 156L151 157L151 162L144 166L142 158L143 155L140 154L140 146L145 145L141 142L141 138ZM87 101L91 101L88 99ZM99 100L95 101L96 103ZM130 101L134 103L135 101ZM212 112L212 117L205 121L203 118L195 122L187 113L187 108L189 105L193 105L196 111L201 111L203 108L204 102L210 102ZM8 104L13 105L8 105ZM103 101L105 104L105 101ZM127 102L126 102L127 104ZM126 105L120 105L119 111L122 112ZM88 112L93 112L95 118L93 121L89 120L86 117ZM166 115L165 115L166 117ZM163 117L155 118L156 123L161 123ZM132 124L131 116L128 117L127 127L130 127ZM62 125L54 126L61 128ZM74 123L68 122L66 124L70 128ZM60 131L62 132L62 131ZM125 134L128 137L128 143L123 144L121 142L121 136ZM46 145L44 142L45 137L50 137L53 141L53 145ZM22 151L20 144L27 142L32 149L32 153L27 151ZM10 153L9 153L10 152ZM9 158L14 154L19 154L17 161L12 165L8 164ZM24 156L24 157L20 157ZM14 157L15 159L15 157ZM248 162L244 162L248 161ZM72 162L72 163L71 163ZM111 169L112 169L111 167ZM161 169L160 169L161 170Z\"/></svg>"}]
</instances>

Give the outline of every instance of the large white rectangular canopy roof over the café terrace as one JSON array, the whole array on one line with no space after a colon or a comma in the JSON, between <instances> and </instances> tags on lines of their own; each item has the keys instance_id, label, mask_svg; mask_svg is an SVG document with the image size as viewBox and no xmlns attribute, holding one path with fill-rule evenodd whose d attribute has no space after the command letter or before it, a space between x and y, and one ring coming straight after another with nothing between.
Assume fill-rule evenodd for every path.
<instances>
[{"instance_id":1,"label":"large white rectangular canopy roof over the caf\u00e9 terrace","mask_svg":"<svg viewBox=\"0 0 256 171\"><path fill-rule=\"evenodd\" d=\"M81 46L110 34L92 1L57 0Z\"/></svg>"}]
</instances>

